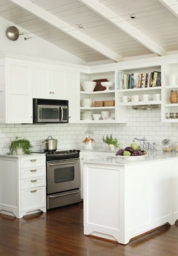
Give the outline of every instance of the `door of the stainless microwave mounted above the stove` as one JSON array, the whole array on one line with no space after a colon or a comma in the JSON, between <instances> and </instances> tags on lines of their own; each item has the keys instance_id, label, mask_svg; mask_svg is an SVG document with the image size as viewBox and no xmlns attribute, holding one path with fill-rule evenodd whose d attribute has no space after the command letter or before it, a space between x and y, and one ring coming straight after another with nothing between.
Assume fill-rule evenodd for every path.
<instances>
[{"instance_id":1,"label":"door of the stainless microwave mounted above the stove","mask_svg":"<svg viewBox=\"0 0 178 256\"><path fill-rule=\"evenodd\" d=\"M60 122L61 106L58 105L37 105L37 123Z\"/></svg>"}]
</instances>

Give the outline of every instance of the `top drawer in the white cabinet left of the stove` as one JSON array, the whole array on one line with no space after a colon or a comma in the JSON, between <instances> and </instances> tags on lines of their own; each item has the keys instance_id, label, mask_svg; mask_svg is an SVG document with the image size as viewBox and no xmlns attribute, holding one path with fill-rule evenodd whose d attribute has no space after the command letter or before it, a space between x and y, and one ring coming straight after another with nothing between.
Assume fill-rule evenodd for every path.
<instances>
[{"instance_id":1,"label":"top drawer in the white cabinet left of the stove","mask_svg":"<svg viewBox=\"0 0 178 256\"><path fill-rule=\"evenodd\" d=\"M21 159L21 168L33 168L45 165L45 157L31 157Z\"/></svg>"}]
</instances>

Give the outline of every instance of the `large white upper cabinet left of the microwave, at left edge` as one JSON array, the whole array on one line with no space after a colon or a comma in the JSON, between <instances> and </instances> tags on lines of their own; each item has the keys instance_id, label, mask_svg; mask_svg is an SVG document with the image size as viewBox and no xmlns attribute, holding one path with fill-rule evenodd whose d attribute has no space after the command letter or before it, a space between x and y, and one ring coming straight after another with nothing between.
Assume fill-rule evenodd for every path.
<instances>
[{"instance_id":1,"label":"large white upper cabinet left of the microwave, at left edge","mask_svg":"<svg viewBox=\"0 0 178 256\"><path fill-rule=\"evenodd\" d=\"M32 65L25 60L0 60L0 122L32 123Z\"/></svg>"}]
</instances>

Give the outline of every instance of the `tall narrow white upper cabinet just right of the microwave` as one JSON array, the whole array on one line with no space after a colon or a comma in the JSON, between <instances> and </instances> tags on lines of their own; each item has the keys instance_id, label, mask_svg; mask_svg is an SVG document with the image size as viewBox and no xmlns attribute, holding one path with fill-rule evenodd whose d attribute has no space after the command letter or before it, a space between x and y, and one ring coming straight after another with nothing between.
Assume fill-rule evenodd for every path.
<instances>
[{"instance_id":1,"label":"tall narrow white upper cabinet just right of the microwave","mask_svg":"<svg viewBox=\"0 0 178 256\"><path fill-rule=\"evenodd\" d=\"M80 120L80 73L74 70L67 72L68 122L77 123Z\"/></svg>"}]
</instances>

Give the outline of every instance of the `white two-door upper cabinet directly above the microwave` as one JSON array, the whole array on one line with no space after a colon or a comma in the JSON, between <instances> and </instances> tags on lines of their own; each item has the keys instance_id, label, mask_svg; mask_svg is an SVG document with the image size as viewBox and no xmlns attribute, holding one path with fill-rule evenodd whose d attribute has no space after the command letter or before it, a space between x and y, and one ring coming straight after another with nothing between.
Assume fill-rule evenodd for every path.
<instances>
[{"instance_id":1,"label":"white two-door upper cabinet directly above the microwave","mask_svg":"<svg viewBox=\"0 0 178 256\"><path fill-rule=\"evenodd\" d=\"M67 99L67 70L58 65L33 64L33 98Z\"/></svg>"}]
</instances>

